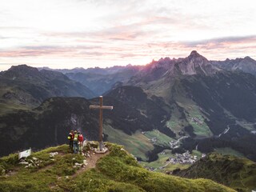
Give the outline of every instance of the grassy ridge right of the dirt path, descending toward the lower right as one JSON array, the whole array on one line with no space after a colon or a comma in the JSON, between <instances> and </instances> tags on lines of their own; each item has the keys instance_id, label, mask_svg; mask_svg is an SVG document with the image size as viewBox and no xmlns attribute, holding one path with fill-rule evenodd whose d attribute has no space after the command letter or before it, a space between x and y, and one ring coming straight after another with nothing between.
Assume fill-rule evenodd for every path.
<instances>
[{"instance_id":1,"label":"grassy ridge right of the dirt path, descending toward the lower right","mask_svg":"<svg viewBox=\"0 0 256 192\"><path fill-rule=\"evenodd\" d=\"M112 164L112 162L115 162ZM116 182L126 182L145 191L232 191L205 179L189 180L154 173L138 166L124 150L112 146L110 155L100 159L98 170Z\"/></svg>"}]
</instances>

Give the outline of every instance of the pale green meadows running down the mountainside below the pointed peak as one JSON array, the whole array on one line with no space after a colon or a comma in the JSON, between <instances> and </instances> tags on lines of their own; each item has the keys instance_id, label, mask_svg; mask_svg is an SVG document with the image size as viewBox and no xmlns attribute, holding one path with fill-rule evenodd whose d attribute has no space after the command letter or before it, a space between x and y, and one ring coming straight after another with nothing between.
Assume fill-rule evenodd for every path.
<instances>
[{"instance_id":1,"label":"pale green meadows running down the mountainside below the pointed peak","mask_svg":"<svg viewBox=\"0 0 256 192\"><path fill-rule=\"evenodd\" d=\"M186 97L186 90L184 90L180 80L176 79L174 82L168 81L168 83L166 83L164 79L159 79L158 81L150 82L149 85L150 88L148 92L150 94L166 98L167 100L174 98L174 101L177 102L178 106L185 110L185 116L182 116L181 111L174 106L170 120L166 122L166 126L169 127L170 130L174 131L175 134L178 134L178 132L183 130L185 126L190 125L193 126L194 134L199 138L208 138L213 135L209 126L204 122L206 117L202 114L198 104ZM202 125L198 125L191 121L191 118L200 119L202 121Z\"/></svg>"}]
</instances>

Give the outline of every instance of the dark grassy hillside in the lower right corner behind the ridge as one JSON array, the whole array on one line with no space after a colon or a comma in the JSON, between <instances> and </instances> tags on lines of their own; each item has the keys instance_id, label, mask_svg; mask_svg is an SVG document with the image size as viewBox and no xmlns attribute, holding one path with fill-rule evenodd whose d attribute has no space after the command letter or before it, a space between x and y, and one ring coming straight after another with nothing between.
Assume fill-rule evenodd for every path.
<instances>
[{"instance_id":1,"label":"dark grassy hillside in the lower right corner behind the ridge","mask_svg":"<svg viewBox=\"0 0 256 192\"><path fill-rule=\"evenodd\" d=\"M186 178L209 178L238 191L256 190L256 163L231 155L208 154L178 175Z\"/></svg>"}]
</instances>

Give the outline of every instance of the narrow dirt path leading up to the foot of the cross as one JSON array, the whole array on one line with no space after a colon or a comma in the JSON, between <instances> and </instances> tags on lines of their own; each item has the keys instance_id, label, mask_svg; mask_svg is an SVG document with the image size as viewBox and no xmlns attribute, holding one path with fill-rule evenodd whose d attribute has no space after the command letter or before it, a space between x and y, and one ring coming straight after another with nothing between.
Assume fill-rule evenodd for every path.
<instances>
[{"instance_id":1,"label":"narrow dirt path leading up to the foot of the cross","mask_svg":"<svg viewBox=\"0 0 256 192\"><path fill-rule=\"evenodd\" d=\"M91 168L94 168L96 166L96 162L98 161L98 159L106 156L107 154L109 154L110 151L106 151L105 154L96 154L94 153L94 151L90 150L90 158L86 157L86 161L87 161L87 166L80 168L79 170L76 171L75 174L72 175L72 178L75 178L78 176L78 174L82 174L82 172L86 171L86 170L90 170Z\"/></svg>"}]
</instances>

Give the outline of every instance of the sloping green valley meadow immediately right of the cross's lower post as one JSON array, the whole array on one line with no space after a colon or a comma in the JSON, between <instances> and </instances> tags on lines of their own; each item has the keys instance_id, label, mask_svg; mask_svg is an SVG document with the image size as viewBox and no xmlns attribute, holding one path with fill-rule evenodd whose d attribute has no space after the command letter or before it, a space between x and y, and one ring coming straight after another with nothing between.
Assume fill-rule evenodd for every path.
<instances>
[{"instance_id":1,"label":"sloping green valley meadow immediately right of the cross's lower post","mask_svg":"<svg viewBox=\"0 0 256 192\"><path fill-rule=\"evenodd\" d=\"M128 135L122 130L116 130L111 126L104 126L104 131L109 135L108 141L118 143L125 147L130 154L134 154L136 157L142 158L146 161L146 154L148 151L153 150L153 143L149 141L141 131L137 131L135 134Z\"/></svg>"}]
</instances>

